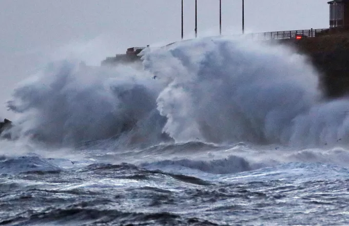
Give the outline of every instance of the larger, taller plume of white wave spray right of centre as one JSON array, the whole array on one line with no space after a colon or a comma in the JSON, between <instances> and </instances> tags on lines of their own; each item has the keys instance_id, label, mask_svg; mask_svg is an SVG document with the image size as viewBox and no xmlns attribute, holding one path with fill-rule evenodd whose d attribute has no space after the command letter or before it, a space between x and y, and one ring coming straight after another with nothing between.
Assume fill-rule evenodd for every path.
<instances>
[{"instance_id":1,"label":"larger, taller plume of white wave spray right of centre","mask_svg":"<svg viewBox=\"0 0 349 226\"><path fill-rule=\"evenodd\" d=\"M143 58L170 81L157 102L176 141L317 145L347 135L347 101L323 103L316 71L292 49L201 39Z\"/></svg>"}]
</instances>

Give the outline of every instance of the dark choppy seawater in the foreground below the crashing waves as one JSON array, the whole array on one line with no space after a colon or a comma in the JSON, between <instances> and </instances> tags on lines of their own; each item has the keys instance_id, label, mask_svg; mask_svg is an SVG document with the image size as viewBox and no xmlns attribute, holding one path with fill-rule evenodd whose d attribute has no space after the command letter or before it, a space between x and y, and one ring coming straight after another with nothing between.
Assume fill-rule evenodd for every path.
<instances>
[{"instance_id":1,"label":"dark choppy seawater in the foreground below the crashing waves","mask_svg":"<svg viewBox=\"0 0 349 226\"><path fill-rule=\"evenodd\" d=\"M248 152L242 144L228 152L242 150ZM89 161L3 156L0 225L349 223L349 169L333 163L262 167L234 155L142 164Z\"/></svg>"}]
</instances>

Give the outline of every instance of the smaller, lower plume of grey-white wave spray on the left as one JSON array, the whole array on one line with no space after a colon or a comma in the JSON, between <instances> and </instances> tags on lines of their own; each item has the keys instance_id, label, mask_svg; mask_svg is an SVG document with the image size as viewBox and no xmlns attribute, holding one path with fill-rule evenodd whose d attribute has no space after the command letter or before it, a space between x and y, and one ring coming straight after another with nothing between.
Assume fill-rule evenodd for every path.
<instances>
[{"instance_id":1,"label":"smaller, lower plume of grey-white wave spray on the left","mask_svg":"<svg viewBox=\"0 0 349 226\"><path fill-rule=\"evenodd\" d=\"M142 124L162 122L155 101L159 87L150 78L132 67L51 64L36 79L21 84L9 102L10 109L21 114L17 134L49 143L79 144L133 131L136 140L141 134L134 130L141 131ZM145 129L157 136L161 128L155 123Z\"/></svg>"}]
</instances>

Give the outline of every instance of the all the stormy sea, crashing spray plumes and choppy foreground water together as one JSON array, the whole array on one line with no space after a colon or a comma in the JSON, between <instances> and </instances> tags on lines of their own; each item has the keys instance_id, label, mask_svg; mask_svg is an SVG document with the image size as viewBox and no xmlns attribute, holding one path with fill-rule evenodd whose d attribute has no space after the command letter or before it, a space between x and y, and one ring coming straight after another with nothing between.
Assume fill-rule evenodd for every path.
<instances>
[{"instance_id":1,"label":"all the stormy sea, crashing spray plumes and choppy foreground water together","mask_svg":"<svg viewBox=\"0 0 349 226\"><path fill-rule=\"evenodd\" d=\"M18 84L0 225L349 224L349 101L305 56L225 37L141 54Z\"/></svg>"}]
</instances>

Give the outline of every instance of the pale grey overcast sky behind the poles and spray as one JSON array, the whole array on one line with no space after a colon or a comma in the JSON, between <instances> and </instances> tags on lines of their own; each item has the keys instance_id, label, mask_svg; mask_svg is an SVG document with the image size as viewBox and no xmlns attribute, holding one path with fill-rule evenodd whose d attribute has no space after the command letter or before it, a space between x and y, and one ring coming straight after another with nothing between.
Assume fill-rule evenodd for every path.
<instances>
[{"instance_id":1,"label":"pale grey overcast sky behind the poles and spray","mask_svg":"<svg viewBox=\"0 0 349 226\"><path fill-rule=\"evenodd\" d=\"M245 0L247 32L328 27L328 0ZM223 34L241 33L242 0L222 0ZM184 0L193 37L195 0ZM1 0L0 120L15 84L51 60L99 65L132 46L181 39L181 0ZM198 0L198 34L219 33L219 0Z\"/></svg>"}]
</instances>

